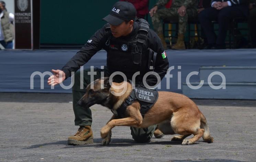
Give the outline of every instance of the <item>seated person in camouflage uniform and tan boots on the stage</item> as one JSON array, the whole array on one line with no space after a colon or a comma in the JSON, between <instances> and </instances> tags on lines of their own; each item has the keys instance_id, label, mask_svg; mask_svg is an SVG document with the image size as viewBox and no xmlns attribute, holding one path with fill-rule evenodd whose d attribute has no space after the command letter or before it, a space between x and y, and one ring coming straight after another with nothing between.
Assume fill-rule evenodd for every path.
<instances>
[{"instance_id":1,"label":"seated person in camouflage uniform and tan boots on the stage","mask_svg":"<svg viewBox=\"0 0 256 162\"><path fill-rule=\"evenodd\" d=\"M169 0L159 0L156 5L150 10L149 14L152 17L152 23L155 32L162 40L164 48L167 48L164 33L163 23L161 20L173 19L179 21L179 32L177 43L171 46L171 49L184 50L184 34L188 23L188 15L191 17L197 16L197 0L172 0L171 8L162 8Z\"/></svg>"}]
</instances>

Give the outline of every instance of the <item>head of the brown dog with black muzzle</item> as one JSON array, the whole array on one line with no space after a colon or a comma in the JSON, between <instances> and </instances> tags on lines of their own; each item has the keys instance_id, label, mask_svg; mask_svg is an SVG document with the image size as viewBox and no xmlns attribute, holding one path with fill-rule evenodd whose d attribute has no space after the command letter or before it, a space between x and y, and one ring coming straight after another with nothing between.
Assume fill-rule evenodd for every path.
<instances>
[{"instance_id":1,"label":"head of the brown dog with black muzzle","mask_svg":"<svg viewBox=\"0 0 256 162\"><path fill-rule=\"evenodd\" d=\"M91 82L86 87L85 95L82 96L77 104L83 108L89 108L95 104L102 105L102 103L104 103L110 95L110 87L111 86L108 77L97 79L94 82Z\"/></svg>"}]
</instances>

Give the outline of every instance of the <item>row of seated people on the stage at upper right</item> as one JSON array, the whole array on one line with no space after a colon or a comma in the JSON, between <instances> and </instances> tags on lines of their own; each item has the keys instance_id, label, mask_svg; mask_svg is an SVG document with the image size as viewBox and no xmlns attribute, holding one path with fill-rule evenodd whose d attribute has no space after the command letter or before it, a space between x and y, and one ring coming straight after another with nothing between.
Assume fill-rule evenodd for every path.
<instances>
[{"instance_id":1,"label":"row of seated people on the stage at upper right","mask_svg":"<svg viewBox=\"0 0 256 162\"><path fill-rule=\"evenodd\" d=\"M128 1L134 4L138 17L143 18L147 13L150 15L153 28L165 49L186 49L185 35L190 20L200 26L203 49L225 49L227 31L234 28L232 22L235 21L248 24L247 39L240 37L236 41L243 41L246 47L256 47L256 0L158 0L150 11L148 0ZM168 21L178 25L177 40L171 46L163 31L163 22ZM217 31L214 24L218 24ZM239 30L234 32L236 35L241 33Z\"/></svg>"}]
</instances>

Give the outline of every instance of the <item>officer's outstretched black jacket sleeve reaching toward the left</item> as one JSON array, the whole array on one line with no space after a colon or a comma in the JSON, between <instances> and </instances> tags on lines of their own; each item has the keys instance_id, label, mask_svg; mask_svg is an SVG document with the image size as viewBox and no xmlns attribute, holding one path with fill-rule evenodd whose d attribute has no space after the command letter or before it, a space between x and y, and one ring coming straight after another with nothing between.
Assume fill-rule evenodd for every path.
<instances>
[{"instance_id":1,"label":"officer's outstretched black jacket sleeve reaching toward the left","mask_svg":"<svg viewBox=\"0 0 256 162\"><path fill-rule=\"evenodd\" d=\"M71 71L77 71L80 66L87 63L96 52L102 49L104 43L107 41L107 35L105 26L94 33L81 50L62 68L66 74L66 79L71 76Z\"/></svg>"}]
</instances>

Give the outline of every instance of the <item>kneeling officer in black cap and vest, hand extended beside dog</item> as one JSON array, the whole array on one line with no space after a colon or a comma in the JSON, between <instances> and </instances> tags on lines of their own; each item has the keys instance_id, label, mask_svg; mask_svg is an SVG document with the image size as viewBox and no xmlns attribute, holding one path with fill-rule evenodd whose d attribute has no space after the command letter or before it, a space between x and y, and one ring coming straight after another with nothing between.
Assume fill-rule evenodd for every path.
<instances>
[{"instance_id":1,"label":"kneeling officer in black cap and vest, hand extended beside dog","mask_svg":"<svg viewBox=\"0 0 256 162\"><path fill-rule=\"evenodd\" d=\"M70 77L71 71L77 71L101 49L107 51L107 67L104 69L104 76L106 77L115 71L121 71L127 79L132 79L133 74L140 71L140 75L136 77L136 84L142 84L144 74L151 70L148 68L149 65L154 65L154 72L163 79L169 67L163 45L157 34L149 29L149 25L144 19L136 19L136 9L131 3L116 2L110 14L103 20L107 21L108 24L99 29L62 70L52 70L54 75L49 77L49 85L56 85ZM80 71L75 73L72 91L73 109L75 125L80 127L74 136L68 138L69 145L84 145L93 142L91 110L83 109L77 104L78 100L85 94L87 85L91 82L88 71L90 69L84 70L83 89L80 89ZM102 70L96 68L94 71L97 72L97 75L94 75L94 80L99 79ZM121 82L122 77L116 76L114 81ZM157 77L150 75L146 82L153 86L157 83ZM137 142L148 142L155 128L156 125L144 129L131 127L131 134ZM162 133L159 130L156 131L158 134L155 136Z\"/></svg>"}]
</instances>

